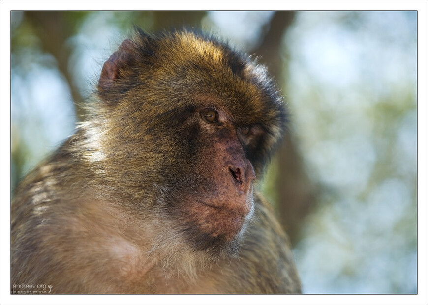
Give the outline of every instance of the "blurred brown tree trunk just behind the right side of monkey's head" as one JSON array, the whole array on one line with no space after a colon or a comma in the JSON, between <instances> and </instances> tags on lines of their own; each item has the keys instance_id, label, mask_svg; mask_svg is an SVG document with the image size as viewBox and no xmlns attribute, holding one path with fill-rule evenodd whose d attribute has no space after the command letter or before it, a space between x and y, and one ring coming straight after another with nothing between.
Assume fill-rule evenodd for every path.
<instances>
[{"instance_id":1,"label":"blurred brown tree trunk just behind the right side of monkey's head","mask_svg":"<svg viewBox=\"0 0 428 305\"><path fill-rule=\"evenodd\" d=\"M271 19L262 43L256 55L260 55L261 62L269 67L269 71L278 83L282 80L282 71L286 69L287 62L283 63L282 41L287 29L292 24L295 12L276 12ZM284 144L278 153L278 177L276 179L278 190L277 209L282 225L290 235L291 242L295 244L299 238L300 224L313 205L317 190L311 183L302 159L297 150L297 143L291 131L287 132Z\"/></svg>"}]
</instances>

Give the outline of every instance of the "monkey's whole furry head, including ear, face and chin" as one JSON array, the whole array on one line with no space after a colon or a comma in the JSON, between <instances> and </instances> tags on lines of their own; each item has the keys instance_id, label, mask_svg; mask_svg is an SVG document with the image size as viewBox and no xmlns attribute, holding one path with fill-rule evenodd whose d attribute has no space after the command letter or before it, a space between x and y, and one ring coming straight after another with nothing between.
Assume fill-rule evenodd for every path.
<instances>
[{"instance_id":1,"label":"monkey's whole furry head, including ear, face and chin","mask_svg":"<svg viewBox=\"0 0 428 305\"><path fill-rule=\"evenodd\" d=\"M173 215L194 249L236 251L284 132L265 67L209 36L137 29L104 63L96 96L86 158L112 193Z\"/></svg>"}]
</instances>

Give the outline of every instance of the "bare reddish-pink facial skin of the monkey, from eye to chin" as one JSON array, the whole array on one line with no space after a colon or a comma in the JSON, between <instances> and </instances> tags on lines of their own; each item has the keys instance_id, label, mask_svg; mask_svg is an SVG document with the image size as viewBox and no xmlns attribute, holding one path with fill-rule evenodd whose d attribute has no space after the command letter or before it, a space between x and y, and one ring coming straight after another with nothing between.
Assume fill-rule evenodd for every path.
<instances>
[{"instance_id":1,"label":"bare reddish-pink facial skin of the monkey, from eye to chin","mask_svg":"<svg viewBox=\"0 0 428 305\"><path fill-rule=\"evenodd\" d=\"M232 240L251 217L254 168L240 141L245 137L227 113L210 108L198 111L198 155L193 179L185 193L191 222L204 233Z\"/></svg>"}]
</instances>

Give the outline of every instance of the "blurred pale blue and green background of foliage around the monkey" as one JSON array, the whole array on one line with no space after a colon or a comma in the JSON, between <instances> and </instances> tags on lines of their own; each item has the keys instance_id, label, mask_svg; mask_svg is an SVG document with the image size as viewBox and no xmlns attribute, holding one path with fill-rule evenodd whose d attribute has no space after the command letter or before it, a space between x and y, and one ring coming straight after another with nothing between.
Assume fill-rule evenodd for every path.
<instances>
[{"instance_id":1,"label":"blurred pale blue and green background of foliage around the monkey","mask_svg":"<svg viewBox=\"0 0 428 305\"><path fill-rule=\"evenodd\" d=\"M73 134L133 25L202 28L275 76L291 122L259 188L304 293L417 293L417 12L13 11L12 191Z\"/></svg>"}]
</instances>

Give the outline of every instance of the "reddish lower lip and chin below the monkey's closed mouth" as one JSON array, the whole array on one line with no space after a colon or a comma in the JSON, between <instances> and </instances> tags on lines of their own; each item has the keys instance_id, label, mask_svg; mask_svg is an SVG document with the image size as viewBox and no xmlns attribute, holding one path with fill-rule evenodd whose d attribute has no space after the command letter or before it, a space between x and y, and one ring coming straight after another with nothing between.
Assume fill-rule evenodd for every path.
<instances>
[{"instance_id":1,"label":"reddish lower lip and chin below the monkey's closed mouth","mask_svg":"<svg viewBox=\"0 0 428 305\"><path fill-rule=\"evenodd\" d=\"M236 238L241 232L246 216L235 211L198 204L192 206L191 217L199 229L212 237L222 237L227 241Z\"/></svg>"}]
</instances>

